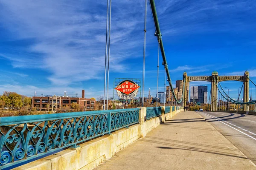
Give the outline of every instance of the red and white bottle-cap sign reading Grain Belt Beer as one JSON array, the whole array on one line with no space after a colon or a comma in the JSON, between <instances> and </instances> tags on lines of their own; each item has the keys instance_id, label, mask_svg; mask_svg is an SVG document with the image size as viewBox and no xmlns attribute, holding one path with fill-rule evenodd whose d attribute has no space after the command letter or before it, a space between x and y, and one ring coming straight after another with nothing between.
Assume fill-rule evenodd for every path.
<instances>
[{"instance_id":1,"label":"red and white bottle-cap sign reading Grain Belt Beer","mask_svg":"<svg viewBox=\"0 0 256 170\"><path fill-rule=\"evenodd\" d=\"M131 100L135 98L138 94L139 85L137 85L132 80L123 80L116 86L116 93L117 95L124 100Z\"/></svg>"}]
</instances>

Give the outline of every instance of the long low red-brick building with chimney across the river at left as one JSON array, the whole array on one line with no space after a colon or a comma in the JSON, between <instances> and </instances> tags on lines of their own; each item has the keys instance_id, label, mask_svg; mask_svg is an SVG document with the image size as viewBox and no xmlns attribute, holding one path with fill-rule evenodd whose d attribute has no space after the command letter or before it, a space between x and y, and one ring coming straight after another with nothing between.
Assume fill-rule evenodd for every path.
<instances>
[{"instance_id":1,"label":"long low red-brick building with chimney across the river at left","mask_svg":"<svg viewBox=\"0 0 256 170\"><path fill-rule=\"evenodd\" d=\"M84 90L82 97L70 96L34 96L32 97L32 108L37 108L40 111L57 111L64 107L71 109L72 103L78 103L84 111L94 110L95 100L84 98Z\"/></svg>"}]
</instances>

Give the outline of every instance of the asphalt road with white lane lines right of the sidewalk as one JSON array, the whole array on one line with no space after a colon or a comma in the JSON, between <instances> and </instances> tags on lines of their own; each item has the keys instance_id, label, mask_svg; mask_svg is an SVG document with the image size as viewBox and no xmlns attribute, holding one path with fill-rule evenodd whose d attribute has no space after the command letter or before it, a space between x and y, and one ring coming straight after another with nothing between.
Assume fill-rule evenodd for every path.
<instances>
[{"instance_id":1,"label":"asphalt road with white lane lines right of the sidewalk","mask_svg":"<svg viewBox=\"0 0 256 170\"><path fill-rule=\"evenodd\" d=\"M223 112L197 113L256 164L256 116Z\"/></svg>"}]
</instances>

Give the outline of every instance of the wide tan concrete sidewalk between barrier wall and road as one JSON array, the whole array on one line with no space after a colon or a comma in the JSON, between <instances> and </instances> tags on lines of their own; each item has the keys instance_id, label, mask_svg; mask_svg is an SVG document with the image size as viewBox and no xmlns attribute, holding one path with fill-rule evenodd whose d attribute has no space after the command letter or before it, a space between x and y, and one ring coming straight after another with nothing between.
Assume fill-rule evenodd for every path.
<instances>
[{"instance_id":1,"label":"wide tan concrete sidewalk between barrier wall and road","mask_svg":"<svg viewBox=\"0 0 256 170\"><path fill-rule=\"evenodd\" d=\"M201 120L201 121L200 121ZM198 113L186 111L119 151L95 170L256 170Z\"/></svg>"}]
</instances>

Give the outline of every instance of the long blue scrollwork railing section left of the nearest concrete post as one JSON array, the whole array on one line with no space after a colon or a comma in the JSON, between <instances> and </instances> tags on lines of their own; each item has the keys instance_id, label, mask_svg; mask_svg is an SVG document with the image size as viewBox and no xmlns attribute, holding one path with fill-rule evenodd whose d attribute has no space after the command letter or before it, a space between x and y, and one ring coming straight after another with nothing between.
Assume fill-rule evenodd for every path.
<instances>
[{"instance_id":1,"label":"long blue scrollwork railing section left of the nearest concrete post","mask_svg":"<svg viewBox=\"0 0 256 170\"><path fill-rule=\"evenodd\" d=\"M139 123L139 108L0 118L0 169Z\"/></svg>"}]
</instances>

